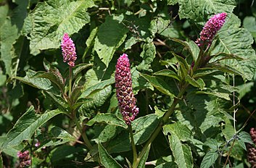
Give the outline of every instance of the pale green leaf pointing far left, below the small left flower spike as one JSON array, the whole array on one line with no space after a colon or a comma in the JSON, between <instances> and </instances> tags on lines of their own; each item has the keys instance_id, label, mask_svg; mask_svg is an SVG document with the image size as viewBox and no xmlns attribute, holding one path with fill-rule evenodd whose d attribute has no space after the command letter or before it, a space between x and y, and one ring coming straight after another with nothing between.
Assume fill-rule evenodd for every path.
<instances>
[{"instance_id":1,"label":"pale green leaf pointing far left, below the small left flower spike","mask_svg":"<svg viewBox=\"0 0 256 168\"><path fill-rule=\"evenodd\" d=\"M49 91L52 88L50 80L43 77L35 78L33 77L34 75L36 75L35 71L28 70L28 72L26 72L25 77L12 77L12 79L20 80L22 83L31 85L34 88L38 88L45 91Z\"/></svg>"}]
</instances>

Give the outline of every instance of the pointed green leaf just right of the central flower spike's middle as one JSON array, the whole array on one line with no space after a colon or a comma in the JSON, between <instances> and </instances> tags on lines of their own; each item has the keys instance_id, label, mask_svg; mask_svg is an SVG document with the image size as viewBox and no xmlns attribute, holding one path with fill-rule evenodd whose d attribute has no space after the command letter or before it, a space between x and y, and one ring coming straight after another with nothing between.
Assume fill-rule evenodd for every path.
<instances>
[{"instance_id":1,"label":"pointed green leaf just right of the central flower spike's middle","mask_svg":"<svg viewBox=\"0 0 256 168\"><path fill-rule=\"evenodd\" d=\"M151 85L153 85L154 88L157 88L158 91L168 96L175 97L175 95L173 94L172 88L170 88L170 86L167 83L165 83L165 81L162 80L161 78L142 74L142 73L140 75L144 77Z\"/></svg>"}]
</instances>

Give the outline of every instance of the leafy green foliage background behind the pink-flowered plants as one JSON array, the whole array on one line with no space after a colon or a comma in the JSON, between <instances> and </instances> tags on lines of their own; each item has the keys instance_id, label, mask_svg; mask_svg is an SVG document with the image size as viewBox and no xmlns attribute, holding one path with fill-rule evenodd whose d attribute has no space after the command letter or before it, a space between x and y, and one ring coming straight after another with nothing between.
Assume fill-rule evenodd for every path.
<instances>
[{"instance_id":1,"label":"leafy green foliage background behind the pink-flowered plants","mask_svg":"<svg viewBox=\"0 0 256 168\"><path fill-rule=\"evenodd\" d=\"M218 151L212 144L216 144L225 153L226 140L231 140L234 136L234 109L238 109L236 130L244 124L245 132L249 132L250 127L255 127L255 114L249 116L255 110L256 101L256 2L250 0L2 0L0 143L5 142L8 131L25 112L44 115L46 110L65 109L65 104L60 107L57 103L60 99L50 94L59 93L57 86L49 80L36 80L32 76L35 72L45 71L45 67L51 64L59 69L62 76L67 77L68 67L62 62L60 50L60 40L66 32L75 42L78 53L76 64L83 64L83 70L78 70L78 80L74 81L83 85L81 98L86 98L78 109L79 119L86 122L90 120L84 129L94 146L97 143L104 144L113 158L120 164L127 165L125 158L131 160L132 154L125 126L120 127L120 123L118 126L111 122L106 124L100 119L95 119L96 114L103 113L120 117L115 98L115 84L112 80L118 56L125 52L131 60L133 90L140 109L138 119L134 123L138 126L134 128L134 138L140 149L157 126L157 117L168 110L173 94L178 91L172 78L160 76L168 83L165 85L168 89L163 90L157 89L158 84L155 84L152 78L139 74L152 75L167 68L172 70L172 52L186 57L187 62L191 64L198 51L189 41L195 41L205 21L212 14L219 12L227 12L228 21L218 33L219 41L216 41L212 54L224 52L244 58L222 62L237 70L241 77L236 75L233 78L227 72L216 72L212 76L202 77L205 85L199 85L197 88L207 88L207 94L195 94L198 89L189 87L187 92L190 94L186 95L186 101L178 105L170 119L170 122L177 124L163 127L163 133L152 143L147 161L152 161L157 167L183 167L184 165L180 165L182 161L177 162L177 159L173 158L173 152L176 152L173 149L175 146L170 143L173 140L170 138L173 137L176 138L176 144L189 151L189 157L186 156L186 150L182 151L185 156L181 158L186 159L185 163L190 163L186 167L200 167L207 151ZM188 41L187 45L194 50L189 51L181 45L182 43L177 43L171 38ZM95 88L97 83L104 80L107 82ZM233 83L235 88L232 87ZM92 86L95 86L94 92L86 93L86 89ZM236 92L235 101L233 91ZM34 109L30 108L31 105ZM74 142L74 137L79 140L79 133L72 129L68 117L59 113L52 114L52 118L47 119L48 122L42 122L41 130L29 133L27 141L20 138L12 148L2 149L4 165L15 167L17 151L32 148L29 146L33 141L41 140L40 136L44 137L44 134L51 134L52 137L50 136L49 142L45 142L49 143L46 151L33 148L35 165L97 165L85 159L87 149ZM91 120L93 118L94 120ZM54 135L54 130L63 134ZM185 134L178 133L178 130L183 130ZM230 144L228 146L230 147ZM215 154L217 153L213 153L214 156ZM226 156L223 154L224 158ZM247 152L239 144L235 143L230 156L232 163L237 167L249 165ZM220 156L218 159L222 164L226 161Z\"/></svg>"}]
</instances>

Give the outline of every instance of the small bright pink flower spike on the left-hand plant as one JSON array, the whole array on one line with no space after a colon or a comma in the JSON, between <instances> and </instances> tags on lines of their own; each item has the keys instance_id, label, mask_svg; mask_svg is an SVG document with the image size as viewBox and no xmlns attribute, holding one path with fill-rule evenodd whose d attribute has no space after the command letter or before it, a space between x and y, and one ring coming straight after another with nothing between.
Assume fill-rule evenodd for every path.
<instances>
[{"instance_id":1,"label":"small bright pink flower spike on the left-hand plant","mask_svg":"<svg viewBox=\"0 0 256 168\"><path fill-rule=\"evenodd\" d=\"M74 67L76 60L75 44L67 33L63 35L61 46L63 62L67 62L70 67Z\"/></svg>"}]
</instances>

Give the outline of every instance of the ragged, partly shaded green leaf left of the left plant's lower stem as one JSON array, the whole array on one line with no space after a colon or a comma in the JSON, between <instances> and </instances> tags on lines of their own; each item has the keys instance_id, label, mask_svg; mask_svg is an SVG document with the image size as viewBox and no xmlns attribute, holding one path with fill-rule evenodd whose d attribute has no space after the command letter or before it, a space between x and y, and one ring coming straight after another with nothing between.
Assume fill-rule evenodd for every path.
<instances>
[{"instance_id":1,"label":"ragged, partly shaded green leaf left of the left plant's lower stem","mask_svg":"<svg viewBox=\"0 0 256 168\"><path fill-rule=\"evenodd\" d=\"M44 146L58 146L60 144L76 140L75 137L60 127L52 127L47 135L38 135L36 139L40 142L39 148Z\"/></svg>"}]
</instances>

